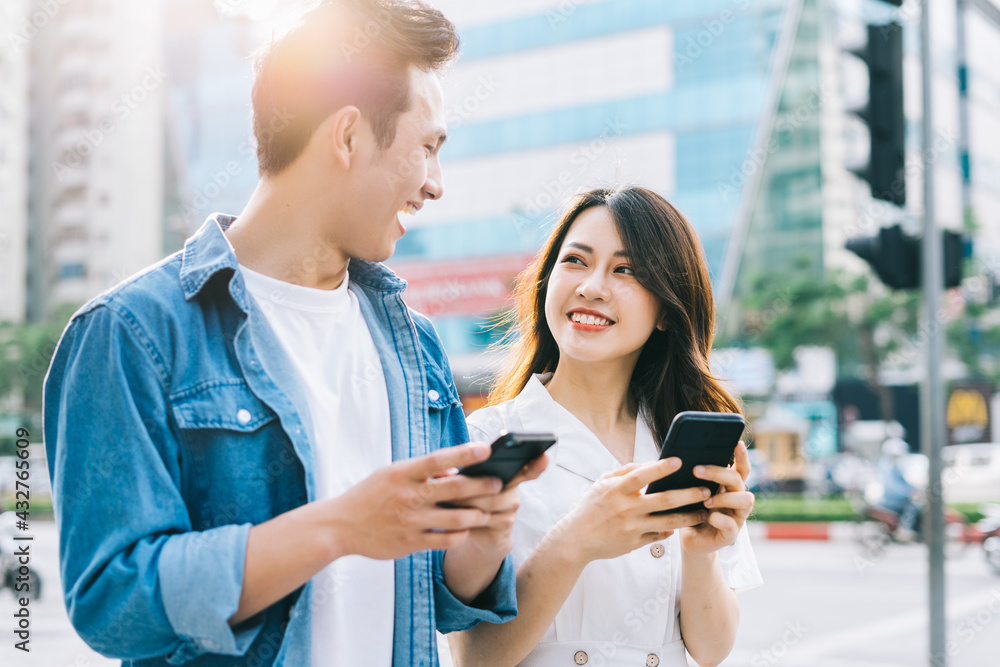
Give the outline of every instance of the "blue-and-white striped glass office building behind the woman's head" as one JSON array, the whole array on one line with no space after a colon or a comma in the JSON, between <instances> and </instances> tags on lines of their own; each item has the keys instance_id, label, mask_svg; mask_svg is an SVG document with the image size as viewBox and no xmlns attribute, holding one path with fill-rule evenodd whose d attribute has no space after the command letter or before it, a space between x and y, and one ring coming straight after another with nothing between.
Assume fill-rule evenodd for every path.
<instances>
[{"instance_id":1,"label":"blue-and-white striped glass office building behind the woman's head","mask_svg":"<svg viewBox=\"0 0 1000 667\"><path fill-rule=\"evenodd\" d=\"M665 195L717 290L800 255L822 270L816 0L436 4L463 41L445 81L446 196L391 265L460 380L495 339L502 285L580 190Z\"/></svg>"}]
</instances>

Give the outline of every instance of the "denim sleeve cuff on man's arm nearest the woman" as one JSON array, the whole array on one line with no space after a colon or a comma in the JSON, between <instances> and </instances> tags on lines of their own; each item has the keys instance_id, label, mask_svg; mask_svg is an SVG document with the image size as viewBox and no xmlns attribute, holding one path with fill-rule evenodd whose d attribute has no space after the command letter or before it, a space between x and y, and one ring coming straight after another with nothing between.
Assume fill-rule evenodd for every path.
<instances>
[{"instance_id":1,"label":"denim sleeve cuff on man's arm nearest the woman","mask_svg":"<svg viewBox=\"0 0 1000 667\"><path fill-rule=\"evenodd\" d=\"M444 552L434 552L434 612L437 629L445 634L467 630L480 621L506 623L517 616L516 572L510 554L497 576L475 600L465 604L444 582Z\"/></svg>"}]
</instances>

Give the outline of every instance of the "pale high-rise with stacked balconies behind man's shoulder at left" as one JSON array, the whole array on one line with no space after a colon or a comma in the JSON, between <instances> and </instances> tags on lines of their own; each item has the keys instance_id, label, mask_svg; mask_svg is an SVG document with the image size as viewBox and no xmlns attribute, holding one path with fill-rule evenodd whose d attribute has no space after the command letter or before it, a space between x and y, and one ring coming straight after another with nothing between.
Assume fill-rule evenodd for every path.
<instances>
[{"instance_id":1,"label":"pale high-rise with stacked balconies behind man's shoulder at left","mask_svg":"<svg viewBox=\"0 0 1000 667\"><path fill-rule=\"evenodd\" d=\"M79 304L163 256L160 0L38 2L28 315Z\"/></svg>"}]
</instances>

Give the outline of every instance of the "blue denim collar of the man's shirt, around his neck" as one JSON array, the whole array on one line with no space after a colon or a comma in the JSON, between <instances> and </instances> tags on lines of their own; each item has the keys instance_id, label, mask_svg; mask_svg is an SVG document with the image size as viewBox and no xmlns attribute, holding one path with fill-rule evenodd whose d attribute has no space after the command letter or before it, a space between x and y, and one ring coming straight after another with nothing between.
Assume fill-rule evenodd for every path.
<instances>
[{"instance_id":1,"label":"blue denim collar of the man's shirt, around his neck","mask_svg":"<svg viewBox=\"0 0 1000 667\"><path fill-rule=\"evenodd\" d=\"M239 260L224 231L236 220L235 215L213 213L201 228L184 244L181 259L180 281L184 299L190 301L198 296L206 284L219 272L228 270L236 273ZM402 292L406 281L379 262L351 259L348 264L351 282L379 292ZM233 292L240 307L249 307L243 298L243 291Z\"/></svg>"}]
</instances>

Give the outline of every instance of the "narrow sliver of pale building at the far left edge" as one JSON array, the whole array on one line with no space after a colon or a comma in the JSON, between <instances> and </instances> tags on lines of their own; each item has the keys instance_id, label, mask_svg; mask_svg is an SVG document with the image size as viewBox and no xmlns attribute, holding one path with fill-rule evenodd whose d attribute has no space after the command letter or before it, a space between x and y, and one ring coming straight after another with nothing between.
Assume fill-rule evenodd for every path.
<instances>
[{"instance_id":1,"label":"narrow sliver of pale building at the far left edge","mask_svg":"<svg viewBox=\"0 0 1000 667\"><path fill-rule=\"evenodd\" d=\"M20 322L27 304L29 52L18 32L28 25L28 0L0 3L0 25L11 26L0 43L0 321Z\"/></svg>"}]
</instances>

